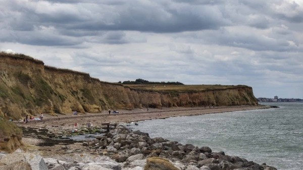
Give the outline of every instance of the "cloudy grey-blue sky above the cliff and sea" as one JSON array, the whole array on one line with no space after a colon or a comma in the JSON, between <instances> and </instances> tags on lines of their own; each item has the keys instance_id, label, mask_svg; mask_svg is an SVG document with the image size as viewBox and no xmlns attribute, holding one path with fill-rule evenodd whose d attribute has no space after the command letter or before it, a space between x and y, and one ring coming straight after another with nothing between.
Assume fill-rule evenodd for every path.
<instances>
[{"instance_id":1,"label":"cloudy grey-blue sky above the cliff and sea","mask_svg":"<svg viewBox=\"0 0 303 170\"><path fill-rule=\"evenodd\" d=\"M0 0L0 50L101 81L303 98L303 0Z\"/></svg>"}]
</instances>

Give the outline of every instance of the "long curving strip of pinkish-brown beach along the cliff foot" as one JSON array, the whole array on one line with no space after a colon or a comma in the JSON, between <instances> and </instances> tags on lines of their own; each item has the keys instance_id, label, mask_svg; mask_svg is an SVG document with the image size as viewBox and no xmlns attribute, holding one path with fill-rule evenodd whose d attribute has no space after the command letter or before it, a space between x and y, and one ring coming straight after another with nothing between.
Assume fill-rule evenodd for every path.
<instances>
[{"instance_id":1,"label":"long curving strip of pinkish-brown beach along the cliff foot","mask_svg":"<svg viewBox=\"0 0 303 170\"><path fill-rule=\"evenodd\" d=\"M204 115L204 114L215 114L221 112L230 111L240 111L240 110L252 110L252 109L264 109L269 108L266 105L257 106L220 106L220 107L170 107L170 108L136 108L133 110L118 110L119 114L109 114L108 110L103 110L102 112L91 114L78 114L73 115L57 115L51 116L44 114L43 121L29 121L28 124L22 124L21 126L74 126L75 123L78 125L87 125L91 122L94 125L103 123L131 123L143 120L153 120L153 119L165 119L169 117L179 117L179 116L194 116L194 115Z\"/></svg>"}]
</instances>

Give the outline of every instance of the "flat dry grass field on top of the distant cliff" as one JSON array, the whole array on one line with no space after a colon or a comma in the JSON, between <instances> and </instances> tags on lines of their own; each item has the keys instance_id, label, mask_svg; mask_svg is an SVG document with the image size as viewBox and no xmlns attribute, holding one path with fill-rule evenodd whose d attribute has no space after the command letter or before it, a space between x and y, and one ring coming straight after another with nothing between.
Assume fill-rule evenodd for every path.
<instances>
[{"instance_id":1,"label":"flat dry grass field on top of the distant cliff","mask_svg":"<svg viewBox=\"0 0 303 170\"><path fill-rule=\"evenodd\" d=\"M138 90L157 91L157 92L183 92L183 93L248 87L245 85L234 86L234 85L163 85L163 84L154 84L154 85L128 84L126 86Z\"/></svg>"}]
</instances>

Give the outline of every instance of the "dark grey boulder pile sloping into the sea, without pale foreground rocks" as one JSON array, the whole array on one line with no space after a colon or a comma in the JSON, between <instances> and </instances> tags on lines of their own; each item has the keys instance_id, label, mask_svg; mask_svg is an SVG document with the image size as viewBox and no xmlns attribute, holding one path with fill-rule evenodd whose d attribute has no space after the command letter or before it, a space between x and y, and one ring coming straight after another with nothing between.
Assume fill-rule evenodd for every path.
<instances>
[{"instance_id":1,"label":"dark grey boulder pile sloping into the sea, without pale foreground rocks","mask_svg":"<svg viewBox=\"0 0 303 170\"><path fill-rule=\"evenodd\" d=\"M150 138L147 133L132 131L122 125L106 136L97 137L83 145L95 149L98 154L110 156L117 162L132 162L150 157L162 157L178 162L184 167L204 169L276 169L237 156L213 152L210 147L182 145L164 138ZM208 168L207 168L208 167Z\"/></svg>"}]
</instances>

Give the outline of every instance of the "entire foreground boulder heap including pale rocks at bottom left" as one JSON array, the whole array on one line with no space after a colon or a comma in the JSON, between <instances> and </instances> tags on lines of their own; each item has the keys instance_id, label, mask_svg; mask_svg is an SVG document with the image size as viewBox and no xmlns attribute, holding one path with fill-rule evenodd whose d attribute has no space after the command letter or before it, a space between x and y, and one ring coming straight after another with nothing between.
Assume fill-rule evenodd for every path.
<instances>
[{"instance_id":1,"label":"entire foreground boulder heap including pale rocks at bottom left","mask_svg":"<svg viewBox=\"0 0 303 170\"><path fill-rule=\"evenodd\" d=\"M0 170L276 170L211 148L182 145L164 138L150 138L147 133L117 126L106 136L84 142L94 154L71 153L55 158L17 152L0 154ZM20 168L23 167L23 168Z\"/></svg>"}]
</instances>

